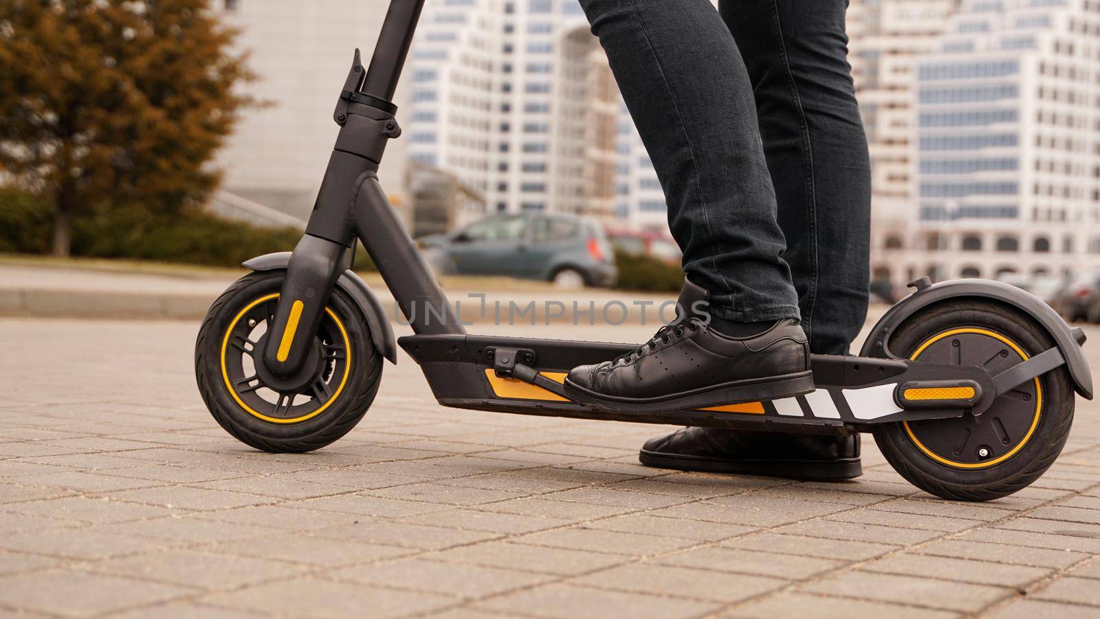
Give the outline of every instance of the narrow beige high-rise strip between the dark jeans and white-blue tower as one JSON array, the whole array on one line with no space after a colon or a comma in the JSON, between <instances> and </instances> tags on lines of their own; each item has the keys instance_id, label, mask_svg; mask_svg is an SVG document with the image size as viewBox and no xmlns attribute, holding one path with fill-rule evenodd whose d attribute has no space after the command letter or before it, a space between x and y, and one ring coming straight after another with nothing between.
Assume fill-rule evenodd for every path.
<instances>
[{"instance_id":1,"label":"narrow beige high-rise strip between the dark jeans and white-blue tower","mask_svg":"<svg viewBox=\"0 0 1100 619\"><path fill-rule=\"evenodd\" d=\"M871 155L872 276L895 284L913 279L890 268L897 248L887 239L904 237L914 217L915 65L937 48L958 3L851 0L848 7L848 62Z\"/></svg>"}]
</instances>

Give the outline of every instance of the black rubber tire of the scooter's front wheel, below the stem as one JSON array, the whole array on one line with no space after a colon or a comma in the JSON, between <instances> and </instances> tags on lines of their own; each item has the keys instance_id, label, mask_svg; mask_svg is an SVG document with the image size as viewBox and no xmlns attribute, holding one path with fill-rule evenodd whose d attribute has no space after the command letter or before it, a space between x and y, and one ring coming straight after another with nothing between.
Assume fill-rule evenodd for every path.
<instances>
[{"instance_id":1,"label":"black rubber tire of the scooter's front wheel, below the stem","mask_svg":"<svg viewBox=\"0 0 1100 619\"><path fill-rule=\"evenodd\" d=\"M289 398L286 404L287 419L276 421L276 417L271 416L272 421L266 421L257 416L266 413L253 410L249 405L251 402L242 398L245 398L244 391L260 393L261 390L249 387L238 392L229 384L233 382L228 373L233 362L224 360L233 354L230 347L227 347L230 341L229 329L240 328L241 316L244 316L250 307L256 306L266 297L277 297L285 276L285 271L251 273L234 282L215 301L202 321L195 344L195 376L210 414L235 438L264 452L304 453L319 449L337 441L359 423L371 408L378 391L382 379L382 356L374 347L366 319L354 301L341 290L333 290L329 297L326 321L342 325L342 329L337 333L344 341L339 341L336 346L345 345L348 356L339 376L332 369L319 370L322 373L332 372L331 376L321 377L322 381L342 379L339 389L332 390L334 394L329 398L331 402L326 400L322 406L321 393L310 395L302 392L300 395L304 397L305 403L299 406L295 406L295 402L302 398ZM234 323L234 319L238 322ZM234 324L238 327L234 327ZM322 346L320 336L317 345ZM223 354L223 350L227 352ZM319 348L319 350L327 349ZM336 368L339 363L334 360L338 354L332 352L333 360L330 360L326 356L328 352L321 351L319 362L324 368ZM253 382L261 383L261 388L264 387L258 379L246 383L245 387ZM249 395L249 398L255 397ZM300 415L301 421L294 421L297 417L293 416L292 409L305 408L308 411L307 405L312 398L316 398L315 409L319 412ZM279 393L276 412L279 411L278 404L283 402L283 394Z\"/></svg>"}]
</instances>

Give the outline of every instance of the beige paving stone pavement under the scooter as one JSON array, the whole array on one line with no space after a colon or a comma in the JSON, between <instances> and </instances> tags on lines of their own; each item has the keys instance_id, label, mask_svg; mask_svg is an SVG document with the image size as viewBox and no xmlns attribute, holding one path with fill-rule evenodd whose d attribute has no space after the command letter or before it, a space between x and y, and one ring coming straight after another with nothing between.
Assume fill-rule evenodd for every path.
<instances>
[{"instance_id":1,"label":"beige paving stone pavement under the scooter","mask_svg":"<svg viewBox=\"0 0 1100 619\"><path fill-rule=\"evenodd\" d=\"M196 332L0 319L0 617L1100 617L1089 402L982 504L867 439L845 484L645 468L666 427L443 409L407 357L346 437L271 455L204 409Z\"/></svg>"}]
</instances>

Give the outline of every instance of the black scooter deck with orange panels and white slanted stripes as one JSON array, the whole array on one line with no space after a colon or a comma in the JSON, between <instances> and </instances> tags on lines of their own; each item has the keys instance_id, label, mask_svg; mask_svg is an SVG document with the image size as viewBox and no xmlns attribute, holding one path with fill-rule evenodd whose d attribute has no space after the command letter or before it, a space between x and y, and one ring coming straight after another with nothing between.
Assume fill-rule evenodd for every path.
<instances>
[{"instance_id":1,"label":"black scooter deck with orange panels and white slanted stripes","mask_svg":"<svg viewBox=\"0 0 1100 619\"><path fill-rule=\"evenodd\" d=\"M988 381L988 377L980 380L985 372L978 376L978 368L814 355L811 365L817 390L806 395L703 410L632 413L581 404L565 397L563 389L556 389L570 369L612 359L634 348L630 345L465 334L406 336L398 344L420 365L436 399L447 406L637 423L858 432L877 423L961 416L974 405L971 392L968 402L902 408L897 397L900 384L920 379L972 384L965 389L980 392L979 383ZM516 363L534 369L530 373L537 372L535 382L541 385L501 376L502 368ZM920 377L913 376L917 367Z\"/></svg>"}]
</instances>

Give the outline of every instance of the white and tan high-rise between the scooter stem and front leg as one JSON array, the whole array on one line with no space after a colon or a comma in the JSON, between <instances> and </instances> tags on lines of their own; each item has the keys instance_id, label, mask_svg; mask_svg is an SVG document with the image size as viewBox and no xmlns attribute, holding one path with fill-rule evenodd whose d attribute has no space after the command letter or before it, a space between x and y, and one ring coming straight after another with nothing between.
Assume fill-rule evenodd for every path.
<instances>
[{"instance_id":1,"label":"white and tan high-rise between the scooter stem and front leg","mask_svg":"<svg viewBox=\"0 0 1100 619\"><path fill-rule=\"evenodd\" d=\"M409 152L492 211L614 216L617 97L576 0L429 0Z\"/></svg>"}]
</instances>

